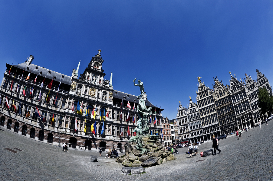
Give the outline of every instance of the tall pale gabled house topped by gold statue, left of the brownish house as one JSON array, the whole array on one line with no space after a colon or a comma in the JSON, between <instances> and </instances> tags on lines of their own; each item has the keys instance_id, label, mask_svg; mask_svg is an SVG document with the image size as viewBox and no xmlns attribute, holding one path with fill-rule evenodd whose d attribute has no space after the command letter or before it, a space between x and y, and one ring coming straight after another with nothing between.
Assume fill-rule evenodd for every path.
<instances>
[{"instance_id":1,"label":"tall pale gabled house topped by gold statue, left of the brownish house","mask_svg":"<svg viewBox=\"0 0 273 181\"><path fill-rule=\"evenodd\" d=\"M200 118L203 129L203 140L212 139L212 134L219 135L219 123L216 115L212 90L207 87L198 78L198 92L196 92L196 100L199 107Z\"/></svg>"}]
</instances>

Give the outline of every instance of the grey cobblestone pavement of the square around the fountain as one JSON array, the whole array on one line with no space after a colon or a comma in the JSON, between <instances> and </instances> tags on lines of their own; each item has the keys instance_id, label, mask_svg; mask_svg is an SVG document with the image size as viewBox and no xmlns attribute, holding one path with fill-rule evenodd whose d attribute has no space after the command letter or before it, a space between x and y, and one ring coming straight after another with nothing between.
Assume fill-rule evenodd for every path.
<instances>
[{"instance_id":1,"label":"grey cobblestone pavement of the square around the fountain","mask_svg":"<svg viewBox=\"0 0 273 181\"><path fill-rule=\"evenodd\" d=\"M1 126L0 180L273 180L272 126L268 122L261 129L254 127L243 132L240 140L236 135L220 140L222 151L215 156L188 158L187 148L179 148L177 160L146 168L146 173L136 176L121 175L121 164L105 158L105 153L102 157L95 151L69 149L66 153ZM211 146L212 142L201 144L199 153ZM98 156L98 162L90 162L89 155Z\"/></svg>"}]
</instances>

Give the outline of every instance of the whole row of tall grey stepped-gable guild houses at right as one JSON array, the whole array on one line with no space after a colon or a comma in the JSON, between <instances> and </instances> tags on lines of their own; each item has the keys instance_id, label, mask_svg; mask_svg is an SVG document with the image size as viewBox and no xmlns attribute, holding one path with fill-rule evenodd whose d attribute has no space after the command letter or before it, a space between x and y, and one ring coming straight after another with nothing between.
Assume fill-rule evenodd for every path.
<instances>
[{"instance_id":1,"label":"whole row of tall grey stepped-gable guild houses at right","mask_svg":"<svg viewBox=\"0 0 273 181\"><path fill-rule=\"evenodd\" d=\"M230 73L230 85L224 85L218 78L213 78L213 89L205 86L198 77L198 91L196 91L197 104L196 115L200 115L202 125L191 123L193 102L190 100L188 109L183 107L179 101L177 110L177 123L179 141L206 141L211 140L212 135L230 135L238 129L251 128L258 125L258 122L265 121L270 116L267 113L261 114L258 105L258 88L264 88L272 96L272 88L268 79L256 69L257 80L245 74L245 82L240 81ZM193 103L193 104L192 104ZM185 122L185 120L187 120ZM188 123L189 121L189 123ZM202 131L201 131L201 129Z\"/></svg>"}]
</instances>

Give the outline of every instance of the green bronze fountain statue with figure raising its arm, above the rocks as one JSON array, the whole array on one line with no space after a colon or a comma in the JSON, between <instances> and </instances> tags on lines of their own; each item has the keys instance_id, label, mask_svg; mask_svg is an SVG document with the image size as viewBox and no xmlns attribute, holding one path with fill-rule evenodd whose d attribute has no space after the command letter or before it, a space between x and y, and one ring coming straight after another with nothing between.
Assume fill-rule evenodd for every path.
<instances>
[{"instance_id":1,"label":"green bronze fountain statue with figure raising its arm, above the rocks","mask_svg":"<svg viewBox=\"0 0 273 181\"><path fill-rule=\"evenodd\" d=\"M135 79L136 80L136 79ZM138 80L138 85L140 86L140 92L141 94L138 96L139 98L139 103L137 105L137 111L138 111L138 117L139 119L137 120L137 127L133 130L133 132L136 132L136 136L132 136L130 142L136 142L136 149L140 150L140 154L144 154L148 152L147 148L143 148L142 141L157 141L159 139L158 135L150 135L149 133L149 116L151 116L152 111L151 107L149 109L146 108L145 106L145 100L142 99L142 96L144 94L144 86L143 82Z\"/></svg>"}]
</instances>

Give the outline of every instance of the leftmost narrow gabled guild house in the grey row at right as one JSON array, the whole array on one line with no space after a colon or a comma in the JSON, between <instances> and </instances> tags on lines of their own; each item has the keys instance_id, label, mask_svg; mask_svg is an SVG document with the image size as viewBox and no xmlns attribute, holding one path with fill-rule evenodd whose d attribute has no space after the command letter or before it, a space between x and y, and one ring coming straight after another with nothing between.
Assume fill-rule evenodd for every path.
<instances>
[{"instance_id":1,"label":"leftmost narrow gabled guild house in the grey row at right","mask_svg":"<svg viewBox=\"0 0 273 181\"><path fill-rule=\"evenodd\" d=\"M183 107L179 101L179 110L177 110L176 120L178 135L180 141L189 141L189 123L188 123L188 109Z\"/></svg>"}]
</instances>

